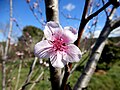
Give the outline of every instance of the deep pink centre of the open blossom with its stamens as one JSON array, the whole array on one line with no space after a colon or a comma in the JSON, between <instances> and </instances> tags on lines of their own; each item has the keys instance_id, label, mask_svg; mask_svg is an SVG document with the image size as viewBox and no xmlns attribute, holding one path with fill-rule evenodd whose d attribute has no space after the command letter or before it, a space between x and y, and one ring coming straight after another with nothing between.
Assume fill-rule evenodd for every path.
<instances>
[{"instance_id":1,"label":"deep pink centre of the open blossom with its stamens","mask_svg":"<svg viewBox=\"0 0 120 90\"><path fill-rule=\"evenodd\" d=\"M53 48L54 48L54 51L65 51L66 45L63 39L62 38L55 39L53 41Z\"/></svg>"}]
</instances>

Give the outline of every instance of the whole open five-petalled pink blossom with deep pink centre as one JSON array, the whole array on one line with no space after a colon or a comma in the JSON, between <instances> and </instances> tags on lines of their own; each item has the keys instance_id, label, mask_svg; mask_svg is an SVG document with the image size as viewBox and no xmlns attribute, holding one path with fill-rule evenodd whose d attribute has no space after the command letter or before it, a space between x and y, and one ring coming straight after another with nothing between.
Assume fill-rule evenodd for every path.
<instances>
[{"instance_id":1,"label":"whole open five-petalled pink blossom with deep pink centre","mask_svg":"<svg viewBox=\"0 0 120 90\"><path fill-rule=\"evenodd\" d=\"M77 31L72 27L64 29L55 22L48 22L44 29L46 40L35 45L34 53L39 58L50 58L53 67L63 68L68 62L78 62L80 49L75 46Z\"/></svg>"}]
</instances>

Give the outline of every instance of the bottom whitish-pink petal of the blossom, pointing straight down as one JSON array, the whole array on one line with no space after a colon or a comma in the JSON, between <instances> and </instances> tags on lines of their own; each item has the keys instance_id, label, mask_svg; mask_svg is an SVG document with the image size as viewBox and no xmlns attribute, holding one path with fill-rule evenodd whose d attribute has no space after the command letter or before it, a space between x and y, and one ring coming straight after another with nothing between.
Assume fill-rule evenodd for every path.
<instances>
[{"instance_id":1,"label":"bottom whitish-pink petal of the blossom, pointing straight down","mask_svg":"<svg viewBox=\"0 0 120 90\"><path fill-rule=\"evenodd\" d=\"M53 55L50 56L50 61L53 67L63 68L67 63L63 60L62 52L57 51Z\"/></svg>"}]
</instances>

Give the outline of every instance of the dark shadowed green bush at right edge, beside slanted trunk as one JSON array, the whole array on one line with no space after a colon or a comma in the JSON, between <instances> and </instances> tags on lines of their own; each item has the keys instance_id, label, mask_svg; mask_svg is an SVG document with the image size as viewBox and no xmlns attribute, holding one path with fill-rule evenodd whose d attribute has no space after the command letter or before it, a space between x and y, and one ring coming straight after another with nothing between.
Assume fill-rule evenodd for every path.
<instances>
[{"instance_id":1,"label":"dark shadowed green bush at right edge, beside slanted trunk","mask_svg":"<svg viewBox=\"0 0 120 90\"><path fill-rule=\"evenodd\" d=\"M120 58L120 48L116 46L115 43L108 41L108 44L101 54L97 69L110 69L110 67L118 61L118 58Z\"/></svg>"}]
</instances>

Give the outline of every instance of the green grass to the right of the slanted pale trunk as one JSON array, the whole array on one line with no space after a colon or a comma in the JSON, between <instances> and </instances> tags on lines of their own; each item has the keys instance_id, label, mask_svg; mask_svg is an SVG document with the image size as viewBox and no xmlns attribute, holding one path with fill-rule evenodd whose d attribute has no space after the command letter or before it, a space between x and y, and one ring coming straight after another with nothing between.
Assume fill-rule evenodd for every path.
<instances>
[{"instance_id":1,"label":"green grass to the right of the slanted pale trunk","mask_svg":"<svg viewBox=\"0 0 120 90\"><path fill-rule=\"evenodd\" d=\"M88 90L120 90L120 61L116 62L106 74L92 77Z\"/></svg>"}]
</instances>

